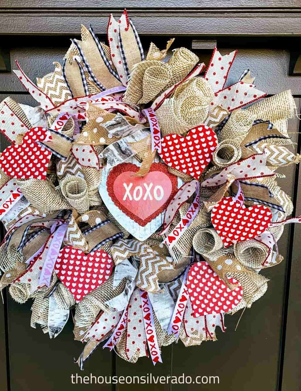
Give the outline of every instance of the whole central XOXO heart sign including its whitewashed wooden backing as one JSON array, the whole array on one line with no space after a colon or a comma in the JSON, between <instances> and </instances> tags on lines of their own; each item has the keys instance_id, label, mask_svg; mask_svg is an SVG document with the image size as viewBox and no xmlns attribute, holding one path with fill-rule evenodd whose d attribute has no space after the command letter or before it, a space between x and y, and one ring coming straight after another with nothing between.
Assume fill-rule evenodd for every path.
<instances>
[{"instance_id":1,"label":"whole central XOXO heart sign including its whitewashed wooden backing","mask_svg":"<svg viewBox=\"0 0 301 391\"><path fill-rule=\"evenodd\" d=\"M144 177L135 176L140 165L131 158L130 163L104 167L98 191L110 214L143 241L160 228L164 210L183 182L163 163L153 163Z\"/></svg>"}]
</instances>

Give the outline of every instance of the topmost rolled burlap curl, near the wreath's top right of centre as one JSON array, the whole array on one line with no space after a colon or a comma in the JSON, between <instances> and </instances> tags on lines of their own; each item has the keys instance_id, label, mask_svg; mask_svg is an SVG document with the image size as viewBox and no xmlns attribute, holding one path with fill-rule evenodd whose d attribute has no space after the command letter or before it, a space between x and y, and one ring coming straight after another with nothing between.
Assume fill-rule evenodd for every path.
<instances>
[{"instance_id":1,"label":"topmost rolled burlap curl, near the wreath's top right of centre","mask_svg":"<svg viewBox=\"0 0 301 391\"><path fill-rule=\"evenodd\" d=\"M173 56L167 64L171 67L172 77L167 83L166 88L183 80L192 68L198 63L199 57L187 48L178 48L173 51Z\"/></svg>"}]
</instances>

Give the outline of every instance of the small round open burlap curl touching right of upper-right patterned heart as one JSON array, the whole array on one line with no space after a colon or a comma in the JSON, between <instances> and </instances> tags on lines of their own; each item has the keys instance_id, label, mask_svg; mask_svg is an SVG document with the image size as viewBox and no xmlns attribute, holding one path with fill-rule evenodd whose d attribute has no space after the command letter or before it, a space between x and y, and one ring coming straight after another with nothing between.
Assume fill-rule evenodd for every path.
<instances>
[{"instance_id":1,"label":"small round open burlap curl touching right of upper-right patterned heart","mask_svg":"<svg viewBox=\"0 0 301 391\"><path fill-rule=\"evenodd\" d=\"M217 167L228 167L241 157L242 150L236 141L224 140L217 144L212 160Z\"/></svg>"}]
</instances>

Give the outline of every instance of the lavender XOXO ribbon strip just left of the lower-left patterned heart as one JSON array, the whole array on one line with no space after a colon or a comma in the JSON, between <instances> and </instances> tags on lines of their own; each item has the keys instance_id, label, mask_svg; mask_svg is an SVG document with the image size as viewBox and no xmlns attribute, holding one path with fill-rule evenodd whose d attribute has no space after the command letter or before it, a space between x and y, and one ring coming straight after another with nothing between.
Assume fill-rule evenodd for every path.
<instances>
[{"instance_id":1,"label":"lavender XOXO ribbon strip just left of the lower-left patterned heart","mask_svg":"<svg viewBox=\"0 0 301 391\"><path fill-rule=\"evenodd\" d=\"M60 225L59 228L57 228L57 230L53 233L53 238L50 242L41 275L39 277L39 286L50 286L50 279L52 276L54 264L57 260L57 256L59 255L67 227L68 223L64 223Z\"/></svg>"}]
</instances>

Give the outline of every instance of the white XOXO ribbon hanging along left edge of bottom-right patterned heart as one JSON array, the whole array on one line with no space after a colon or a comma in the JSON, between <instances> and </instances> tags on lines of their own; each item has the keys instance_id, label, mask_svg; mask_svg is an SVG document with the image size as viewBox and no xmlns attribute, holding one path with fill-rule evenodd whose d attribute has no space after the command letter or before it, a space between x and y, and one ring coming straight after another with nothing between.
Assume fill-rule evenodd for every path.
<instances>
[{"instance_id":1,"label":"white XOXO ribbon hanging along left edge of bottom-right patterned heart","mask_svg":"<svg viewBox=\"0 0 301 391\"><path fill-rule=\"evenodd\" d=\"M171 321L169 323L168 330L167 330L167 334L168 335L174 334L176 339L178 339L179 335L180 335L180 328L182 325L183 316L184 316L185 308L187 305L187 300L189 297L188 288L186 285L189 269L190 269L190 266L188 266L186 268L186 271L185 271L185 274L183 277L183 281L182 281L182 285L181 285L181 289L179 292L179 296L176 301L176 306L173 311L173 316L171 317Z\"/></svg>"}]
</instances>

